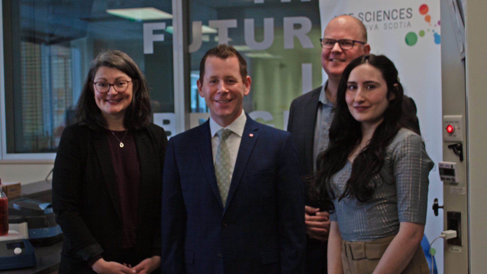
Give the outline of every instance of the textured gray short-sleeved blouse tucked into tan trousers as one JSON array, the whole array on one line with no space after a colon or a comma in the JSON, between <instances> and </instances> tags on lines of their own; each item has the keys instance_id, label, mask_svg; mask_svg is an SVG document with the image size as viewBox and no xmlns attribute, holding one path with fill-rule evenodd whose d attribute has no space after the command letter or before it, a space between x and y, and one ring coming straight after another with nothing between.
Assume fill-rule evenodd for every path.
<instances>
[{"instance_id":1,"label":"textured gray short-sleeved blouse tucked into tan trousers","mask_svg":"<svg viewBox=\"0 0 487 274\"><path fill-rule=\"evenodd\" d=\"M372 179L377 183L372 198L362 203L351 196L338 202L352 171L347 161L331 178L337 198L330 219L338 222L342 239L370 241L397 234L399 222L426 223L432 167L423 139L403 128L387 146L384 165Z\"/></svg>"}]
</instances>

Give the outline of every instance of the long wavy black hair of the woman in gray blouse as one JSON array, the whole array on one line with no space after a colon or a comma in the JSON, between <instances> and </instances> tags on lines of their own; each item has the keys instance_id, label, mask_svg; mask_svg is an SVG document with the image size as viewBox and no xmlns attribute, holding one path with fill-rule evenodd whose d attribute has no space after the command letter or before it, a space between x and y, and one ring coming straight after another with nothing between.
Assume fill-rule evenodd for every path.
<instances>
[{"instance_id":1,"label":"long wavy black hair of the woman in gray blouse","mask_svg":"<svg viewBox=\"0 0 487 274\"><path fill-rule=\"evenodd\" d=\"M338 200L355 196L357 200L365 202L373 196L377 185L372 178L379 174L384 164L386 147L402 127L400 118L404 90L393 62L383 55L373 54L362 55L350 62L338 85L336 112L329 131L330 143L328 149L318 155L318 172L310 186L310 196L319 202L322 210L333 212L332 200L336 198L336 188L331 184L331 177L345 166L348 157L362 139L360 122L350 114L345 92L350 72L365 63L382 73L387 83L387 98L393 99L389 101L383 114L384 119L375 129L369 144L355 158L350 178Z\"/></svg>"}]
</instances>

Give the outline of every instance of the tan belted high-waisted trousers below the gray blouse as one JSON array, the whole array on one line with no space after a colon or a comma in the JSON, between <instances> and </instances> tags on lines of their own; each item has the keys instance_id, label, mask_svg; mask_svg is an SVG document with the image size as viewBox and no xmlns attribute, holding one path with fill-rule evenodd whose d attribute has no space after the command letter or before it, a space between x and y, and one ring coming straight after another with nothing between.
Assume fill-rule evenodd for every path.
<instances>
[{"instance_id":1,"label":"tan belted high-waisted trousers below the gray blouse","mask_svg":"<svg viewBox=\"0 0 487 274\"><path fill-rule=\"evenodd\" d=\"M382 254L393 240L395 235L374 241L345 241L341 240L341 264L343 274L371 274L379 263ZM429 274L430 269L426 262L421 245L402 274Z\"/></svg>"}]
</instances>

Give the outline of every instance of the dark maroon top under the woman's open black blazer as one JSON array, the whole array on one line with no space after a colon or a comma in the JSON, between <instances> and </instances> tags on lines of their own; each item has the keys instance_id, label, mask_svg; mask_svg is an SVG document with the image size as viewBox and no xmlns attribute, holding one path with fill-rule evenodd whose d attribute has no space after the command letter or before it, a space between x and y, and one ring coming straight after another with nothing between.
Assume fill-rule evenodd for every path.
<instances>
[{"instance_id":1,"label":"dark maroon top under the woman's open black blazer","mask_svg":"<svg viewBox=\"0 0 487 274\"><path fill-rule=\"evenodd\" d=\"M135 246L137 230L137 213L139 208L140 166L137 148L133 134L129 131L124 138L125 131L113 132L124 147L120 147L112 132L107 132L110 153L112 154L113 169L118 187L120 214L122 221L122 248Z\"/></svg>"}]
</instances>

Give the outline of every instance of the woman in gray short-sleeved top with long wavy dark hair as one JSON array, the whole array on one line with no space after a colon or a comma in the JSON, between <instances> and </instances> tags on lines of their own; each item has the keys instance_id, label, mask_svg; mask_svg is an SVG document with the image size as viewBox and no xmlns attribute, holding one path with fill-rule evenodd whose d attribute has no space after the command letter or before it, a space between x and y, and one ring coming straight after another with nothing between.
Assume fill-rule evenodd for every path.
<instances>
[{"instance_id":1,"label":"woman in gray short-sleeved top with long wavy dark hair","mask_svg":"<svg viewBox=\"0 0 487 274\"><path fill-rule=\"evenodd\" d=\"M328 273L428 273L420 247L433 162L401 120L403 88L385 56L344 70L330 144L311 195L330 209Z\"/></svg>"}]
</instances>

